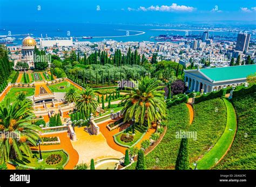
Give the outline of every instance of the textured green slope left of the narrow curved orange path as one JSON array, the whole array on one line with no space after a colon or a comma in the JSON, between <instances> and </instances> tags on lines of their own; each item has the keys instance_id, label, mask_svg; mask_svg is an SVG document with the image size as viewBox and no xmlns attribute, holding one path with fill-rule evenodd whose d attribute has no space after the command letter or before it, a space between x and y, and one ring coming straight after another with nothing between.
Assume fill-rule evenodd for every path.
<instances>
[{"instance_id":1,"label":"textured green slope left of the narrow curved orange path","mask_svg":"<svg viewBox=\"0 0 256 187\"><path fill-rule=\"evenodd\" d=\"M180 140L176 132L185 130L190 116L186 104L172 106L167 110L167 131L152 152L145 156L147 169L173 169L178 155ZM136 162L127 169L135 169Z\"/></svg>"}]
</instances>

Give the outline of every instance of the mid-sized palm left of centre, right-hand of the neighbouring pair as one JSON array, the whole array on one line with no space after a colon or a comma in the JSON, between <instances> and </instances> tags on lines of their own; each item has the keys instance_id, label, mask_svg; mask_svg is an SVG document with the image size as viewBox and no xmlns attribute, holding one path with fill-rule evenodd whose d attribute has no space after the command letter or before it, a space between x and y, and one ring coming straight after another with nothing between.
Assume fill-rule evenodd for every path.
<instances>
[{"instance_id":1,"label":"mid-sized palm left of centre, right-hand of the neighbouring pair","mask_svg":"<svg viewBox=\"0 0 256 187\"><path fill-rule=\"evenodd\" d=\"M99 103L97 102L95 91L86 87L76 102L77 110L83 111L86 116L89 116L90 112L95 112L98 106Z\"/></svg>"}]
</instances>

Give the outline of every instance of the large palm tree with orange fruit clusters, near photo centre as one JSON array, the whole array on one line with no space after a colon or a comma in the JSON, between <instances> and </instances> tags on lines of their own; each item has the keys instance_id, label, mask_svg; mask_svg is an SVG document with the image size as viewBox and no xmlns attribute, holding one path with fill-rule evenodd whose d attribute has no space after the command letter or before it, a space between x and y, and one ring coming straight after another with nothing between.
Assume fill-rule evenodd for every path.
<instances>
[{"instance_id":1,"label":"large palm tree with orange fruit clusters, near photo centre","mask_svg":"<svg viewBox=\"0 0 256 187\"><path fill-rule=\"evenodd\" d=\"M150 127L152 121L165 116L164 87L160 83L156 78L142 77L138 88L129 88L131 93L126 94L122 100L125 121L134 118L134 122L142 126L146 119Z\"/></svg>"}]
</instances>

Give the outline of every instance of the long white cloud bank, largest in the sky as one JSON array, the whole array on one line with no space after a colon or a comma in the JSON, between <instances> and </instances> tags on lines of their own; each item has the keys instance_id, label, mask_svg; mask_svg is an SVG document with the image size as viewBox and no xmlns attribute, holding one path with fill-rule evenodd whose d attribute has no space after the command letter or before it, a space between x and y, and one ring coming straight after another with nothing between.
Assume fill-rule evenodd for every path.
<instances>
[{"instance_id":1,"label":"long white cloud bank, largest in the sky","mask_svg":"<svg viewBox=\"0 0 256 187\"><path fill-rule=\"evenodd\" d=\"M138 9L131 9L128 8L129 11L160 11L160 12L192 12L195 10L192 6L185 6L185 5L177 5L176 3L172 3L171 6L161 5L161 6L153 6L151 5L148 8L145 6L140 6Z\"/></svg>"}]
</instances>

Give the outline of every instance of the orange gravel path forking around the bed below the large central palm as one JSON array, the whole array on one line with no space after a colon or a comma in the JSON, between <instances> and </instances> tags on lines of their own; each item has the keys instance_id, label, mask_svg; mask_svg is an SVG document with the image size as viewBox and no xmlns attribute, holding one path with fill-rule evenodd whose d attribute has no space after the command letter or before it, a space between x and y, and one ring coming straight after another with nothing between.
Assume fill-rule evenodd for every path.
<instances>
[{"instance_id":1,"label":"orange gravel path forking around the bed below the large central palm","mask_svg":"<svg viewBox=\"0 0 256 187\"><path fill-rule=\"evenodd\" d=\"M120 131L123 131L126 127L128 127L130 124L127 124L126 126L122 125L121 128L118 127L112 131L109 131L109 129L106 127L107 124L111 124L113 123L114 121L117 121L117 120L110 120L110 121L107 121L105 123L102 123L102 124L98 124L99 126L99 131L104 135L104 137L106 138L106 141L107 141L107 145L109 145L112 149L114 150L117 150L123 154L125 154L125 150L127 149L126 147L122 147L122 146L119 146L117 145L116 142L114 142L114 138L113 138L113 135L114 134L117 134L118 132Z\"/></svg>"}]
</instances>

